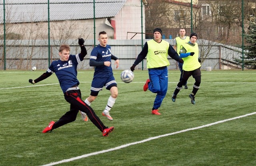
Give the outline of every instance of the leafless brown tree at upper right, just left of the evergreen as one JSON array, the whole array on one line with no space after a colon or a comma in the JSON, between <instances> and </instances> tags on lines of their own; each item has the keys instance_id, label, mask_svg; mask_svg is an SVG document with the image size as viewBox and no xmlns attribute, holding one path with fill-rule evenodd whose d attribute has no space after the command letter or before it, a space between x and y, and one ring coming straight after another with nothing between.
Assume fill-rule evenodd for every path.
<instances>
[{"instance_id":1,"label":"leafless brown tree at upper right, just left of the evergreen","mask_svg":"<svg viewBox=\"0 0 256 166\"><path fill-rule=\"evenodd\" d=\"M253 12L249 1L244 0L244 27L247 31L250 13ZM220 43L237 45L241 43L242 33L242 2L241 0L204 0L199 1L201 8L209 5L208 16L201 14L200 26L215 27L214 33L218 35Z\"/></svg>"}]
</instances>

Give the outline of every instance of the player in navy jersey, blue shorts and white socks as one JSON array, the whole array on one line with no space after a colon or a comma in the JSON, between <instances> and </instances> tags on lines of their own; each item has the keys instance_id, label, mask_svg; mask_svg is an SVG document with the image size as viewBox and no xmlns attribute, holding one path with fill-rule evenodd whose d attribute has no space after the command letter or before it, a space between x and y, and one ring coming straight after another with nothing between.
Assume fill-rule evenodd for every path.
<instances>
[{"instance_id":1,"label":"player in navy jersey, blue shorts and white socks","mask_svg":"<svg viewBox=\"0 0 256 166\"><path fill-rule=\"evenodd\" d=\"M110 90L110 97L108 98L108 103L102 115L106 116L109 120L113 120L110 116L109 111L115 104L116 98L118 96L118 89L115 78L113 76L113 71L111 67L111 59L115 61L114 65L116 68L119 66L119 60L117 57L112 55L110 45L107 45L108 35L105 31L99 33L98 41L100 44L97 47L94 47L90 56L90 66L94 66L94 76L91 86L91 94L84 101L86 104L90 105L97 96L100 90L105 86L107 90ZM82 119L86 121L86 114L80 112Z\"/></svg>"}]
</instances>

